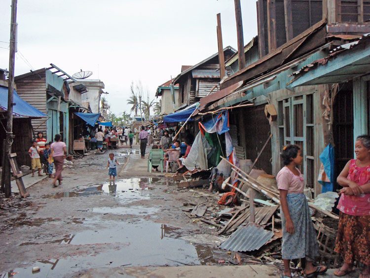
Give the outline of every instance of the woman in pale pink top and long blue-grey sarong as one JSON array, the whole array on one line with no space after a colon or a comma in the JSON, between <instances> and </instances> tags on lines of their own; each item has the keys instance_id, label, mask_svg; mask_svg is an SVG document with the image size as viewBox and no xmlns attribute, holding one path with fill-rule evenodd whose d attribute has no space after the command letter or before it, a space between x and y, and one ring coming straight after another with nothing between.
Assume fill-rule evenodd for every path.
<instances>
[{"instance_id":1,"label":"woman in pale pink top and long blue-grey sarong","mask_svg":"<svg viewBox=\"0 0 370 278\"><path fill-rule=\"evenodd\" d=\"M290 260L305 258L305 277L314 278L325 273L327 268L313 266L313 261L318 254L317 235L312 224L306 196L303 194L304 178L297 168L303 160L299 146L285 146L281 157L285 166L276 176L280 191L283 228L281 251L284 274L281 277L292 277Z\"/></svg>"}]
</instances>

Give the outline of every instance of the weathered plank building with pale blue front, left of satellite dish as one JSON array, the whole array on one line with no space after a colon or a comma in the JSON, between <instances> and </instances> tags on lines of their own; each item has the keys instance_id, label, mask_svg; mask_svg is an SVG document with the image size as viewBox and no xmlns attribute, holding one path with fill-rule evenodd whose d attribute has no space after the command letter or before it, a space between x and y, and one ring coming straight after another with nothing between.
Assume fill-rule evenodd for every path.
<instances>
[{"instance_id":1,"label":"weathered plank building with pale blue front, left of satellite dish","mask_svg":"<svg viewBox=\"0 0 370 278\"><path fill-rule=\"evenodd\" d=\"M68 152L72 151L73 112L91 113L82 105L82 94L88 91L87 87L53 64L49 68L17 76L15 83L23 100L49 116L48 119L32 119L35 138L37 132L42 131L50 142L59 133L67 144ZM80 119L76 121L80 124Z\"/></svg>"}]
</instances>

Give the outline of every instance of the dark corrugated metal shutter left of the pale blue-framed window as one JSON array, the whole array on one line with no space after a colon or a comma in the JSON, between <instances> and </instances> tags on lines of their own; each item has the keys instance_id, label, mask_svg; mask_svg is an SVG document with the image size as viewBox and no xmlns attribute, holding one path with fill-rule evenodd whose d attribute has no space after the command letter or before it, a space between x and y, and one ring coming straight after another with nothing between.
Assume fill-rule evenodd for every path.
<instances>
[{"instance_id":1,"label":"dark corrugated metal shutter left of the pale blue-framed window","mask_svg":"<svg viewBox=\"0 0 370 278\"><path fill-rule=\"evenodd\" d=\"M263 145L265 144L268 136L270 135L270 124L264 114L265 105L258 105L251 108L241 108L236 109L232 114L234 124L240 121L240 118L243 117L244 126L239 126L238 132L243 132L245 134L245 153L246 159L251 159L254 161ZM243 128L244 127L244 128ZM256 163L255 168L263 169L266 173L272 173L271 165L271 140L267 144L263 153L259 157L259 160Z\"/></svg>"}]
</instances>

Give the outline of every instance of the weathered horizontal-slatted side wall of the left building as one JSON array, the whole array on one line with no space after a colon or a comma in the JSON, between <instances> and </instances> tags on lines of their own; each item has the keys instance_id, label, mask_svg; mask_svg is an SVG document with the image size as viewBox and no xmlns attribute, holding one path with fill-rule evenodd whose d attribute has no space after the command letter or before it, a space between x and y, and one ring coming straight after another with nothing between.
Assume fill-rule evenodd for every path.
<instances>
[{"instance_id":1,"label":"weathered horizontal-slatted side wall of the left building","mask_svg":"<svg viewBox=\"0 0 370 278\"><path fill-rule=\"evenodd\" d=\"M17 93L24 101L34 106L42 113L47 114L45 72L28 76L23 79L16 79L15 83L17 84ZM34 127L35 134L37 134L38 131L42 131L46 138L45 119L46 118L32 119L32 126Z\"/></svg>"}]
</instances>

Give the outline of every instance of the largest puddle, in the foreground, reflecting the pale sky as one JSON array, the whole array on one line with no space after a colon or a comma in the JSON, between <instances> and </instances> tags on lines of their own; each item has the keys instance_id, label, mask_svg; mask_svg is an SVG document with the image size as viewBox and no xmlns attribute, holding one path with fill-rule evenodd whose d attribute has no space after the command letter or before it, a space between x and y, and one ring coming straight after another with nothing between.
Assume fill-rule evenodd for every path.
<instances>
[{"instance_id":1,"label":"largest puddle, in the foreground, reflecting the pale sky","mask_svg":"<svg viewBox=\"0 0 370 278\"><path fill-rule=\"evenodd\" d=\"M213 257L216 247L212 249L211 246L179 239L183 236L180 228L147 221L118 225L110 222L107 226L110 225L114 225L114 229L84 231L59 240L71 245L115 243L115 249L93 255L37 261L31 265L40 267L38 273L33 274L32 267L25 267L11 270L1 277L72 277L78 271L97 267L182 266L216 262Z\"/></svg>"}]
</instances>

